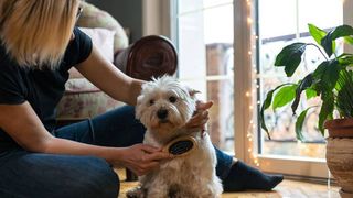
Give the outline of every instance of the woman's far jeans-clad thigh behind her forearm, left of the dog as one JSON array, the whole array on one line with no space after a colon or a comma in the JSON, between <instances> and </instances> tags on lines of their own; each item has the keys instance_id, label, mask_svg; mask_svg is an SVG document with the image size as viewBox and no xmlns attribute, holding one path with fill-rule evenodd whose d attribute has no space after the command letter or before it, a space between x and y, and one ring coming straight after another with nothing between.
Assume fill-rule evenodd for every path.
<instances>
[{"instance_id":1,"label":"woman's far jeans-clad thigh behind her forearm, left of the dog","mask_svg":"<svg viewBox=\"0 0 353 198\"><path fill-rule=\"evenodd\" d=\"M122 147L141 143L145 131L143 125L135 119L135 108L124 106L90 120L60 128L55 135L89 144Z\"/></svg>"}]
</instances>

